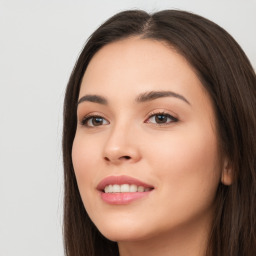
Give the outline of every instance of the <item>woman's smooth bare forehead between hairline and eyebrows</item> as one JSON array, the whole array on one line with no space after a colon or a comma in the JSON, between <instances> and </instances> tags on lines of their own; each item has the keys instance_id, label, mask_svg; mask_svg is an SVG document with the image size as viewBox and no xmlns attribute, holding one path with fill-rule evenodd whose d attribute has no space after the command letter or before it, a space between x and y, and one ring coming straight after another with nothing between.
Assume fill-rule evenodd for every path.
<instances>
[{"instance_id":1,"label":"woman's smooth bare forehead between hairline and eyebrows","mask_svg":"<svg viewBox=\"0 0 256 256\"><path fill-rule=\"evenodd\" d=\"M196 88L198 87L198 88ZM200 87L200 88L199 88ZM187 60L165 42L133 37L100 49L84 74L80 95L148 90L202 90Z\"/></svg>"}]
</instances>

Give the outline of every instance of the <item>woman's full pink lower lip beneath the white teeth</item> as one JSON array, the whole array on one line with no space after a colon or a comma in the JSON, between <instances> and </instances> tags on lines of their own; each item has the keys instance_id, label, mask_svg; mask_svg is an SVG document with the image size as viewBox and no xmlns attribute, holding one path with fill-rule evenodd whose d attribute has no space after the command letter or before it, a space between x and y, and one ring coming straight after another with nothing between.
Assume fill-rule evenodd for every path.
<instances>
[{"instance_id":1,"label":"woman's full pink lower lip beneath the white teeth","mask_svg":"<svg viewBox=\"0 0 256 256\"><path fill-rule=\"evenodd\" d=\"M106 202L108 204L129 204L135 200L138 200L138 199L148 196L151 191L133 192L133 193L103 193L103 192L101 192L101 198L104 202Z\"/></svg>"}]
</instances>

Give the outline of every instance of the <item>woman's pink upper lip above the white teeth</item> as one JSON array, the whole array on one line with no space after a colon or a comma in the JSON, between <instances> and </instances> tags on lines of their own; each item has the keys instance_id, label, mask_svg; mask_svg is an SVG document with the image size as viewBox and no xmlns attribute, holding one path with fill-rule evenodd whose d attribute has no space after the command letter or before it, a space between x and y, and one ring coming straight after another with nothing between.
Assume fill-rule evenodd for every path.
<instances>
[{"instance_id":1,"label":"woman's pink upper lip above the white teeth","mask_svg":"<svg viewBox=\"0 0 256 256\"><path fill-rule=\"evenodd\" d=\"M122 184L129 184L129 185L137 185L137 186L143 186L145 188L154 188L152 185L146 184L138 179L135 179L133 177L130 176L126 176L126 175L121 175L121 176L108 176L106 178L104 178L102 181L100 181L100 183L97 186L97 189L100 191L103 191L104 188L107 185L122 185Z\"/></svg>"}]
</instances>

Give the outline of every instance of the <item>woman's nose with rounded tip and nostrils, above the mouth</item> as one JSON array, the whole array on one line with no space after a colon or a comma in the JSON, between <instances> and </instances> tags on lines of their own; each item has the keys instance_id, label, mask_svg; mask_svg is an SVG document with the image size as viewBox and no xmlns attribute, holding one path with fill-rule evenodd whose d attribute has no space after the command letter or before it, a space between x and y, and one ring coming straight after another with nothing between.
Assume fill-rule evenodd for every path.
<instances>
[{"instance_id":1,"label":"woman's nose with rounded tip and nostrils, above the mouth","mask_svg":"<svg viewBox=\"0 0 256 256\"><path fill-rule=\"evenodd\" d=\"M109 164L135 163L141 159L136 132L115 127L110 131L103 149L103 158Z\"/></svg>"}]
</instances>

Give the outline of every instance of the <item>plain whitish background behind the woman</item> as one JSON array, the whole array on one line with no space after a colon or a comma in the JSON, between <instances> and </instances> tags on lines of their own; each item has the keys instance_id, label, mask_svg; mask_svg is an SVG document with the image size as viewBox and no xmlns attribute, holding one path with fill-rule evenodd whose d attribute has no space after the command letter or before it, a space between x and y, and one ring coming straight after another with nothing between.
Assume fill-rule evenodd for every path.
<instances>
[{"instance_id":1,"label":"plain whitish background behind the woman","mask_svg":"<svg viewBox=\"0 0 256 256\"><path fill-rule=\"evenodd\" d=\"M0 0L0 256L63 255L65 86L87 37L129 8L203 15L256 68L255 0Z\"/></svg>"}]
</instances>

